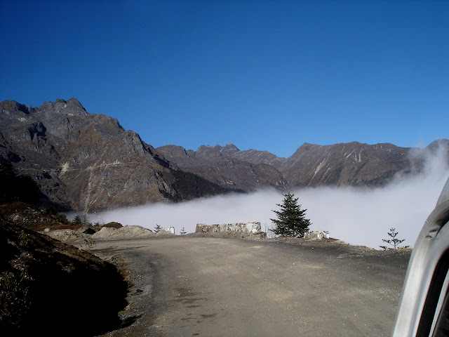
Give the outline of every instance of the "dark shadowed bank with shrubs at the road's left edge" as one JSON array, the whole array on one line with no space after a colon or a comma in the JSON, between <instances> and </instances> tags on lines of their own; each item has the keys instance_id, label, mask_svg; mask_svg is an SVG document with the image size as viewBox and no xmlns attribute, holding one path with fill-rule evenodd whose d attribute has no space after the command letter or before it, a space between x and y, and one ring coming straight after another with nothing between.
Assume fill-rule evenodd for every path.
<instances>
[{"instance_id":1,"label":"dark shadowed bank with shrubs at the road's left edge","mask_svg":"<svg viewBox=\"0 0 449 337\"><path fill-rule=\"evenodd\" d=\"M0 335L97 336L126 324L117 268L0 216Z\"/></svg>"}]
</instances>

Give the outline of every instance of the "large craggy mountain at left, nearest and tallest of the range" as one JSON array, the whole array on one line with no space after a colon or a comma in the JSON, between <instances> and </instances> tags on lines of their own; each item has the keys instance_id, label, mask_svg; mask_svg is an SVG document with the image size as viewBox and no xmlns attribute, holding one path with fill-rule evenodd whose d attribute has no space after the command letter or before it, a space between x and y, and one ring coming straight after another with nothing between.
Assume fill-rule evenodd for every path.
<instances>
[{"instance_id":1,"label":"large craggy mountain at left, nearest and tallest of the range","mask_svg":"<svg viewBox=\"0 0 449 337\"><path fill-rule=\"evenodd\" d=\"M226 192L180 171L137 133L112 117L89 114L75 98L37 108L0 103L0 161L36 179L55 204L76 211Z\"/></svg>"}]
</instances>

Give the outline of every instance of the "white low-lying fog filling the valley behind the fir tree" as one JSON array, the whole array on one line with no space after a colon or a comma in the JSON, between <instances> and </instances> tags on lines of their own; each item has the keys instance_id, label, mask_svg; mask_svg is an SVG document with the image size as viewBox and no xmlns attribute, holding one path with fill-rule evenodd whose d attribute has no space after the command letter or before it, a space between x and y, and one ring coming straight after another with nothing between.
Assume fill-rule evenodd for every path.
<instances>
[{"instance_id":1,"label":"white low-lying fog filling the valley behind the fir tree","mask_svg":"<svg viewBox=\"0 0 449 337\"><path fill-rule=\"evenodd\" d=\"M386 187L357 190L350 187L319 187L294 190L302 209L307 209L310 230L328 230L330 237L350 244L378 249L389 239L395 227L401 245L415 244L424 220L434 209L449 175L442 156L427 160L427 169L419 176L395 180ZM140 225L154 229L173 226L194 232L197 223L246 223L257 221L266 231L273 226L272 210L279 209L283 196L276 190L250 194L228 194L185 201L178 204L149 204L91 214L93 222L117 221L123 225Z\"/></svg>"}]
</instances>

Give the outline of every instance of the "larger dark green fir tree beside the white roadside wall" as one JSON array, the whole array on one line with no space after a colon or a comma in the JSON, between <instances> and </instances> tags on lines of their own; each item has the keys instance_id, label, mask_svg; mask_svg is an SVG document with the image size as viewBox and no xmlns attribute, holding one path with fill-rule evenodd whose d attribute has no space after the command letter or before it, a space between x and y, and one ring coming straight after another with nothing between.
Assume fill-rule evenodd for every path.
<instances>
[{"instance_id":1,"label":"larger dark green fir tree beside the white roadside wall","mask_svg":"<svg viewBox=\"0 0 449 337\"><path fill-rule=\"evenodd\" d=\"M270 219L276 224L276 227L270 231L285 237L304 237L304 233L309 232L311 225L310 220L305 218L307 209L301 209L301 205L297 204L298 198L295 198L295 194L288 192L283 196L283 204L277 204L281 210L274 211L278 218Z\"/></svg>"}]
</instances>

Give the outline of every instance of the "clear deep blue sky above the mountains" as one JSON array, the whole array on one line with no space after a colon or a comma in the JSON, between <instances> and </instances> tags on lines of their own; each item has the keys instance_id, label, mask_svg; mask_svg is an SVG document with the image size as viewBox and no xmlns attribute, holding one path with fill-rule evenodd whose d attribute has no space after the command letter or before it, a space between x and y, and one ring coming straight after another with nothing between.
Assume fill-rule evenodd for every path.
<instances>
[{"instance_id":1,"label":"clear deep blue sky above the mountains","mask_svg":"<svg viewBox=\"0 0 449 337\"><path fill-rule=\"evenodd\" d=\"M0 0L0 100L159 147L449 138L449 1Z\"/></svg>"}]
</instances>

